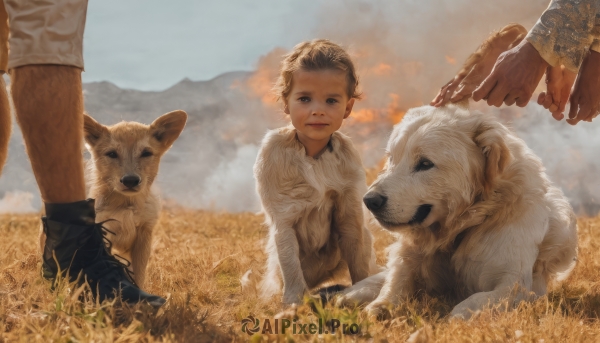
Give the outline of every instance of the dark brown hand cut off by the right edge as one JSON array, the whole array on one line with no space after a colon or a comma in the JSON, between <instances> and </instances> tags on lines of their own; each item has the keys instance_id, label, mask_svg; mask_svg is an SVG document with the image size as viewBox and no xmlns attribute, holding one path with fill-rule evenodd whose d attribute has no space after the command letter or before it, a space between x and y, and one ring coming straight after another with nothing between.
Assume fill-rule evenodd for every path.
<instances>
[{"instance_id":1,"label":"dark brown hand cut off by the right edge","mask_svg":"<svg viewBox=\"0 0 600 343\"><path fill-rule=\"evenodd\" d=\"M583 59L571 93L567 123L591 122L600 110L600 53L590 50Z\"/></svg>"}]
</instances>

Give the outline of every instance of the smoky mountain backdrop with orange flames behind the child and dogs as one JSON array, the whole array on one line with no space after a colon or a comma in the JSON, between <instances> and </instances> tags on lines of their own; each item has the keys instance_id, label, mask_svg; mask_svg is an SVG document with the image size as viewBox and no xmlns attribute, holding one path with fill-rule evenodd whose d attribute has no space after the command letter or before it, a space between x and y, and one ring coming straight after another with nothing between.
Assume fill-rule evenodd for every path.
<instances>
[{"instance_id":1,"label":"smoky mountain backdrop with orange flames behind the child and dogs","mask_svg":"<svg viewBox=\"0 0 600 343\"><path fill-rule=\"evenodd\" d=\"M516 22L531 27L548 4L531 1L360 1L320 2L317 24L301 28L305 39L327 38L346 47L355 60L364 99L342 126L362 153L365 166L379 163L392 126L411 107L429 103L437 90L489 34ZM314 15L310 10L311 15ZM299 42L290 42L293 46ZM85 86L86 110L103 124L119 120L150 123L181 108L189 121L165 155L158 186L164 198L192 208L255 211L252 165L268 129L286 125L271 88L287 49L265 51L256 71L214 80L184 80L163 92L123 90L109 83ZM596 124L571 127L543 108L489 108L540 156L550 178L579 213L596 214L600 161ZM11 142L0 192L37 193L20 135ZM25 166L25 167L24 167ZM4 193L0 193L2 195ZM33 199L33 207L39 200ZM24 205L27 208L27 205Z\"/></svg>"}]
</instances>

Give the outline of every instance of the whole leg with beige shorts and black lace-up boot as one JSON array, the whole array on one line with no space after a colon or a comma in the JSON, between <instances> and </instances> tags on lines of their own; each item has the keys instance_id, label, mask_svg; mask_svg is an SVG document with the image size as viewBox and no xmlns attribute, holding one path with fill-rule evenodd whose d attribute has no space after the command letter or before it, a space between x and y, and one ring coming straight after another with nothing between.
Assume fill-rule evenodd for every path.
<instances>
[{"instance_id":1,"label":"whole leg with beige shorts and black lace-up boot","mask_svg":"<svg viewBox=\"0 0 600 343\"><path fill-rule=\"evenodd\" d=\"M81 43L87 1L4 3L15 112L45 202L44 277L55 280L68 271L71 281L87 281L100 301L119 293L130 303L161 306L165 299L140 290L110 254L107 233L95 222L94 200L83 200Z\"/></svg>"}]
</instances>

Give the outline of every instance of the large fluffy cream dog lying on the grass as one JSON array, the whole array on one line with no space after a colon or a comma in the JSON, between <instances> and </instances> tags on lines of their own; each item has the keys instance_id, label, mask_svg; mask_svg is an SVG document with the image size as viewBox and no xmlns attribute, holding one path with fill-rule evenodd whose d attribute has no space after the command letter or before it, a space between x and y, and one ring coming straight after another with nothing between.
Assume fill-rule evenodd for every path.
<instances>
[{"instance_id":1,"label":"large fluffy cream dog lying on the grass","mask_svg":"<svg viewBox=\"0 0 600 343\"><path fill-rule=\"evenodd\" d=\"M417 292L454 296L451 315L530 299L577 258L575 214L538 157L493 116L410 110L364 201L398 235L388 270L345 291L379 315ZM517 286L517 287L515 287Z\"/></svg>"}]
</instances>

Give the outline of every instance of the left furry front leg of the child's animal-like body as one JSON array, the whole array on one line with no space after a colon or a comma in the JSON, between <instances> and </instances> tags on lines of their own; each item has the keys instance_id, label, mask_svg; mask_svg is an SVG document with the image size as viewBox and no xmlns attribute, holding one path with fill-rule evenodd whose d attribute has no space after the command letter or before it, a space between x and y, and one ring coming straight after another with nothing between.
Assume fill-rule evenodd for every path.
<instances>
[{"instance_id":1,"label":"left furry front leg of the child's animal-like body","mask_svg":"<svg viewBox=\"0 0 600 343\"><path fill-rule=\"evenodd\" d=\"M302 266L300 265L300 247L296 232L291 227L274 227L275 244L281 275L283 276L283 303L302 303L304 293L308 291Z\"/></svg>"}]
</instances>

